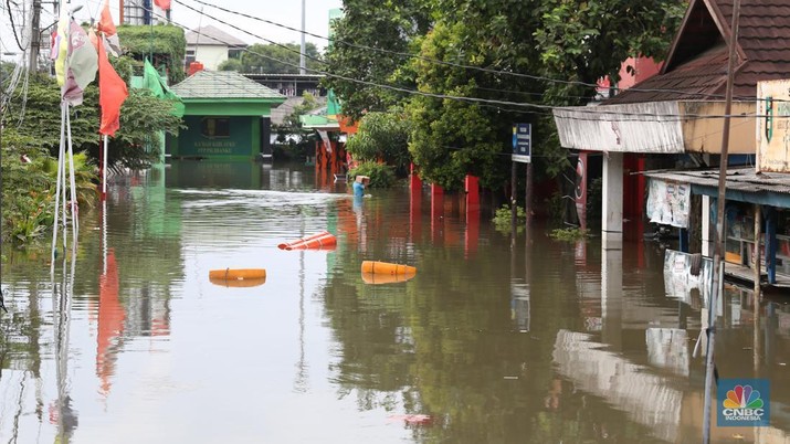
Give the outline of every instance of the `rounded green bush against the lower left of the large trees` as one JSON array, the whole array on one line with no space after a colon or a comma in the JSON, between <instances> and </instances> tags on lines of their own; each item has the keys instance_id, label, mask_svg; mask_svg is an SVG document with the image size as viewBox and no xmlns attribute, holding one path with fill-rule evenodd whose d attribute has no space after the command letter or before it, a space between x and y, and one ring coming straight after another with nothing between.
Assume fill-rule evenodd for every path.
<instances>
[{"instance_id":1,"label":"rounded green bush against the lower left of the large trees","mask_svg":"<svg viewBox=\"0 0 790 444\"><path fill-rule=\"evenodd\" d=\"M408 173L409 120L403 113L368 113L359 123L357 134L346 144L346 150L360 161L381 160L394 167L400 177Z\"/></svg>"}]
</instances>

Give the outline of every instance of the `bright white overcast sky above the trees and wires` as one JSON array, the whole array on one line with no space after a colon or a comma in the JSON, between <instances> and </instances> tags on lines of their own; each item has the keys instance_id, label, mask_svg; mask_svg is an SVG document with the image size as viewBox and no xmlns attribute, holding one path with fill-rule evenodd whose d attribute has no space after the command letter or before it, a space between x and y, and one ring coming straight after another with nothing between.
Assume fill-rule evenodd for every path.
<instances>
[{"instance_id":1,"label":"bright white overcast sky above the trees and wires","mask_svg":"<svg viewBox=\"0 0 790 444\"><path fill-rule=\"evenodd\" d=\"M23 21L21 13L23 3L27 3L25 10L30 10L32 0L14 0L19 7L12 8L14 15L14 24L19 29L19 24ZM128 0L126 0L128 1ZM215 8L202 6L194 0L171 0L171 20L173 24L181 25L188 29L197 29L198 27L211 24L219 28L229 34L246 42L267 43L270 40L276 43L301 43L302 36L299 32L289 31L273 24L264 23L257 20L245 19L236 14L222 12ZM218 4L232 11L242 12L249 15L257 17L271 22L286 25L294 29L302 29L302 1L298 0L201 0L208 4ZM327 36L329 28L329 10L341 8L343 0L304 0L305 1L305 31L320 36ZM7 2L2 2L0 8L0 53L4 60L14 59L13 55L7 53L19 53L13 33L11 32L11 19L9 11L6 8ZM103 0L72 0L72 8L82 6L80 11L74 13L74 18L78 22L88 22L92 18L97 18ZM118 22L118 8L120 0L109 0L109 9L115 22ZM186 4L186 6L185 6ZM200 11L202 8L203 14L187 8L192 7ZM218 22L215 19L221 19L232 25ZM44 11L41 14L41 27L44 28L55 21L53 15L52 4L44 4ZM235 27L235 28L233 28ZM246 31L246 32L245 32ZM21 40L24 40L20 35ZM265 39L265 40L264 40ZM315 43L318 50L323 50L327 45L326 39L314 38L306 35L306 42ZM25 44L25 42L22 42Z\"/></svg>"}]
</instances>

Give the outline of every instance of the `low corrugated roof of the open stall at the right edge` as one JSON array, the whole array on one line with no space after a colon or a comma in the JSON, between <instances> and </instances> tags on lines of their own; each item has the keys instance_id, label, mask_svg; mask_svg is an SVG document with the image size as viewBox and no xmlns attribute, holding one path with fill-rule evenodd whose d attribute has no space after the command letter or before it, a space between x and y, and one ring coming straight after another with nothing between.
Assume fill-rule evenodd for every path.
<instances>
[{"instance_id":1,"label":"low corrugated roof of the open stall at the right edge","mask_svg":"<svg viewBox=\"0 0 790 444\"><path fill-rule=\"evenodd\" d=\"M702 187L718 188L718 169L715 170L656 170L642 175L671 182L691 183ZM727 190L748 193L776 192L790 194L790 175L780 172L760 172L755 167L727 169Z\"/></svg>"}]
</instances>

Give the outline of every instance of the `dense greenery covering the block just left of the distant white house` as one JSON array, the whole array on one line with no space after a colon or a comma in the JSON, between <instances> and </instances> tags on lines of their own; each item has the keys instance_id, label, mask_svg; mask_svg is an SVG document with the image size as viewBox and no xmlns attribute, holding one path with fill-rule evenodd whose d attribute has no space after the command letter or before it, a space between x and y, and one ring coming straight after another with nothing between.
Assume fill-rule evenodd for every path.
<instances>
[{"instance_id":1,"label":"dense greenery covering the block just left of the distant white house","mask_svg":"<svg viewBox=\"0 0 790 444\"><path fill-rule=\"evenodd\" d=\"M170 84L186 78L183 60L187 51L187 39L183 29L170 24L155 27L120 25L118 40L124 54L135 60L154 59L155 66L167 65L167 77ZM140 65L141 66L141 65Z\"/></svg>"}]
</instances>

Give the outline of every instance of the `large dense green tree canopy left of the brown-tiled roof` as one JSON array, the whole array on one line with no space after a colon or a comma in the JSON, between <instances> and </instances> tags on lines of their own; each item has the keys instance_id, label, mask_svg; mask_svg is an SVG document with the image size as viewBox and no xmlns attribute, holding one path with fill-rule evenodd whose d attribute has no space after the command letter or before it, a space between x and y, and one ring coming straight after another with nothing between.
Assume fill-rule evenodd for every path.
<instances>
[{"instance_id":1,"label":"large dense green tree canopy left of the brown-tiled roof","mask_svg":"<svg viewBox=\"0 0 790 444\"><path fill-rule=\"evenodd\" d=\"M533 124L536 170L556 176L567 160L550 108L586 104L592 85L617 80L629 56L663 59L685 7L685 0L349 0L334 22L326 60L335 76L325 83L352 118L403 107L423 179L457 189L471 172L485 187L504 184L515 123Z\"/></svg>"}]
</instances>

